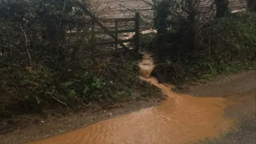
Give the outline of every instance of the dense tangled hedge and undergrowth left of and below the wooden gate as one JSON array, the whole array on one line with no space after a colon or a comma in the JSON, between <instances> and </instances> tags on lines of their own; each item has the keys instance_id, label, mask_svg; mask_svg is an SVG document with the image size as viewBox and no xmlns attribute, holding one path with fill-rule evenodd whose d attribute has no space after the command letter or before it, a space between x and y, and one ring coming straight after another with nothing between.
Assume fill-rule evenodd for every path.
<instances>
[{"instance_id":1,"label":"dense tangled hedge and undergrowth left of and below the wooden gate","mask_svg":"<svg viewBox=\"0 0 256 144\"><path fill-rule=\"evenodd\" d=\"M75 47L66 47L63 31L84 15L70 1L0 3L0 115L130 100L145 89L154 93L137 78L129 55L80 60Z\"/></svg>"}]
</instances>

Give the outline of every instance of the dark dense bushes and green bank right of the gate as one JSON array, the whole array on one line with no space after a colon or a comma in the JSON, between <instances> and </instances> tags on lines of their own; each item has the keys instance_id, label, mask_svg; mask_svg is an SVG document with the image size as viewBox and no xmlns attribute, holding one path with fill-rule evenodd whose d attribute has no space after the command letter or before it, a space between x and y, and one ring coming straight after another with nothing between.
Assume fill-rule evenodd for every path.
<instances>
[{"instance_id":1,"label":"dark dense bushes and green bank right of the gate","mask_svg":"<svg viewBox=\"0 0 256 144\"><path fill-rule=\"evenodd\" d=\"M175 9L172 7L165 9L169 10L167 16L161 17L163 14L156 12L158 35L152 51L158 56L158 64L153 75L162 77L166 82L182 84L206 74L216 75L253 67L256 53L255 13L230 13L219 19L209 15L206 21L194 15L195 19L191 21L188 19L189 12L184 17L173 17L172 13L178 12L173 12ZM163 9L156 11L162 13ZM161 19L166 21L165 27L159 27ZM166 25L170 19L172 22Z\"/></svg>"}]
</instances>

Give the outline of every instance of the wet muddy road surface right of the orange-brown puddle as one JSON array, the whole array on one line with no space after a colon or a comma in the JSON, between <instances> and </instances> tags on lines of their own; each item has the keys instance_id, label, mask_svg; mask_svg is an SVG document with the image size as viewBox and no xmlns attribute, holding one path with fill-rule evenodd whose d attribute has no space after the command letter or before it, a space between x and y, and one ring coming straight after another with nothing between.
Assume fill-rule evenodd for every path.
<instances>
[{"instance_id":1,"label":"wet muddy road surface right of the orange-brown puddle","mask_svg":"<svg viewBox=\"0 0 256 144\"><path fill-rule=\"evenodd\" d=\"M226 143L256 143L256 73L248 71L241 74L220 76L222 79L218 83L209 82L201 87L190 87L188 93L195 95L214 96L216 93L229 97L236 105L226 109L226 115L236 119L236 127L226 133L221 134L218 138L204 139L199 142L205 144L226 144ZM218 81L218 80L217 80ZM211 91L215 87L214 91ZM232 100L233 99L233 100Z\"/></svg>"}]
</instances>

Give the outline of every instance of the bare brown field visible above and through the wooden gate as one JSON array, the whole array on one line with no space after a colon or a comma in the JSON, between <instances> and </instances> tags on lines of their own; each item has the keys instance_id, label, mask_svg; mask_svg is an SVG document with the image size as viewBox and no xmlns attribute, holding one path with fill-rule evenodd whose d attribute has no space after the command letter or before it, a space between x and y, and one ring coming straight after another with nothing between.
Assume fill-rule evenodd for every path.
<instances>
[{"instance_id":1,"label":"bare brown field visible above and through the wooden gate","mask_svg":"<svg viewBox=\"0 0 256 144\"><path fill-rule=\"evenodd\" d=\"M152 9L153 0L91 0L90 7L97 17L100 18L131 18L135 12L140 12L140 28L152 28L154 11ZM202 7L211 7L207 1ZM231 11L241 10L246 7L246 0L229 0ZM215 7L214 9L215 10ZM208 11L208 10L207 10ZM214 14L213 14L214 16ZM104 22L103 22L104 23ZM120 22L118 27L127 28L133 26L133 23ZM114 24L111 25L114 28Z\"/></svg>"}]
</instances>

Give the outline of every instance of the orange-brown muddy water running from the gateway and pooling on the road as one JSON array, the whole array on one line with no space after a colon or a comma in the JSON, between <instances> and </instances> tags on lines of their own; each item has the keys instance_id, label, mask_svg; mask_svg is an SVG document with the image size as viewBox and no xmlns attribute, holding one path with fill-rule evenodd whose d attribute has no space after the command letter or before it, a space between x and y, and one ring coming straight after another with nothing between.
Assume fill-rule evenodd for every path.
<instances>
[{"instance_id":1,"label":"orange-brown muddy water running from the gateway and pooling on the road","mask_svg":"<svg viewBox=\"0 0 256 144\"><path fill-rule=\"evenodd\" d=\"M145 56L140 66L141 73L149 77L154 68L150 55ZM161 88L168 96L163 105L101 121L31 144L188 143L205 137L217 137L233 123L233 119L224 116L224 109L227 108L224 98L176 94L171 91L171 86L159 84L155 78L142 79Z\"/></svg>"}]
</instances>

